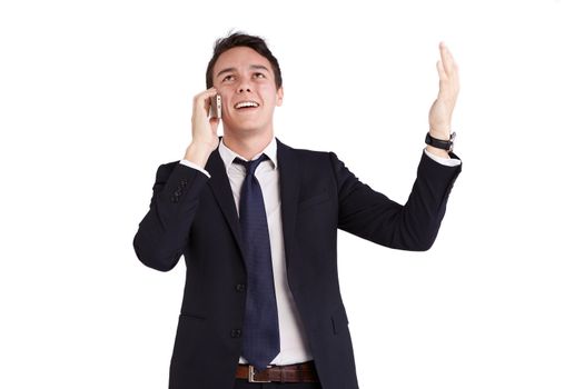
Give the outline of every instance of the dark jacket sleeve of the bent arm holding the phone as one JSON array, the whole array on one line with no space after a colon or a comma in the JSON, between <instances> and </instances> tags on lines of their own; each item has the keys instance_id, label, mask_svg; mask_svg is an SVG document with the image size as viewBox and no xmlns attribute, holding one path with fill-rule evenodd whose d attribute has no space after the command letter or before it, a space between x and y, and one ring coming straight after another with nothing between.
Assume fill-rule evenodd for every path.
<instances>
[{"instance_id":1,"label":"dark jacket sleeve of the bent arm holding the phone","mask_svg":"<svg viewBox=\"0 0 584 389\"><path fill-rule=\"evenodd\" d=\"M133 250L143 265L161 271L177 265L207 180L199 170L178 162L158 168L150 209L133 238Z\"/></svg>"}]
</instances>

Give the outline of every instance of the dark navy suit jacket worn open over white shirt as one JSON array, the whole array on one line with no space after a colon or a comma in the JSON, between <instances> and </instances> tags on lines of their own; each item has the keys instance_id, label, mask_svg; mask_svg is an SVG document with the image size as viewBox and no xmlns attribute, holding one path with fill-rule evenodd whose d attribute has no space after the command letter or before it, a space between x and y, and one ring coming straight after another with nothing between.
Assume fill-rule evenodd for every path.
<instances>
[{"instance_id":1,"label":"dark navy suit jacket worn open over white shirt","mask_svg":"<svg viewBox=\"0 0 584 389\"><path fill-rule=\"evenodd\" d=\"M133 239L157 270L185 256L187 276L170 361L170 389L231 389L241 355L246 268L225 164L215 150L211 178L176 162L158 168L150 209ZM376 243L427 250L461 167L425 153L405 206L362 183L335 153L278 141L288 283L324 389L358 388L337 275L337 229Z\"/></svg>"}]
</instances>

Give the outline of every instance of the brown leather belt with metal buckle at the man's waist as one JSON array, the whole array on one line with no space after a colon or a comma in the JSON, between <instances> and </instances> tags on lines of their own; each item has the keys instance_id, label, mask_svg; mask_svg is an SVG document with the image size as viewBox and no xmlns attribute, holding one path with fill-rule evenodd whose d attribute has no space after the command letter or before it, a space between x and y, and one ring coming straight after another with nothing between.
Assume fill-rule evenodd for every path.
<instances>
[{"instance_id":1,"label":"brown leather belt with metal buckle at the man's waist","mask_svg":"<svg viewBox=\"0 0 584 389\"><path fill-rule=\"evenodd\" d=\"M318 382L313 361L269 366L263 371L256 370L251 365L239 365L235 378L246 379L249 382Z\"/></svg>"}]
</instances>

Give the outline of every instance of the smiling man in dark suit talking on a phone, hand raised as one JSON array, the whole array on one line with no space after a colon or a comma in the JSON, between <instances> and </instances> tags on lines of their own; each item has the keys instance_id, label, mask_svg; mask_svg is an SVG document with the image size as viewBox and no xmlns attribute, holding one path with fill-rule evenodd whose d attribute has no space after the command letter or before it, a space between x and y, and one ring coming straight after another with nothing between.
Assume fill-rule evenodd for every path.
<instances>
[{"instance_id":1,"label":"smiling man in dark suit talking on a phone, hand raised","mask_svg":"<svg viewBox=\"0 0 584 389\"><path fill-rule=\"evenodd\" d=\"M444 44L441 57L428 146L402 206L335 153L275 138L281 73L263 39L232 33L216 42L208 89L194 99L192 141L182 160L158 168L133 240L140 261L157 270L185 257L171 389L358 387L337 229L397 249L433 245L461 171L451 142L457 67ZM216 94L222 138L219 119L209 118Z\"/></svg>"}]
</instances>

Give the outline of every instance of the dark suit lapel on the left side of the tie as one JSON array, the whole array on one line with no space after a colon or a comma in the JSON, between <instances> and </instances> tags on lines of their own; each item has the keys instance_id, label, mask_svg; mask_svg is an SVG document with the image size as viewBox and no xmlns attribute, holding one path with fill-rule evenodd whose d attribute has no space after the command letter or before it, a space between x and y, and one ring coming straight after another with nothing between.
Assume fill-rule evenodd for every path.
<instances>
[{"instance_id":1,"label":"dark suit lapel on the left side of the tie","mask_svg":"<svg viewBox=\"0 0 584 389\"><path fill-rule=\"evenodd\" d=\"M231 186L229 184L229 178L225 170L225 163L219 154L219 150L215 150L209 156L207 166L205 167L211 174L209 179L209 187L227 219L227 223L234 233L239 251L244 255L244 246L241 243L241 230L239 226L239 217L237 216L237 209L235 207L234 193L231 192Z\"/></svg>"}]
</instances>

